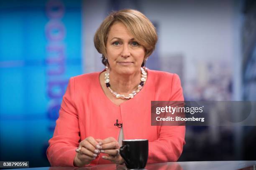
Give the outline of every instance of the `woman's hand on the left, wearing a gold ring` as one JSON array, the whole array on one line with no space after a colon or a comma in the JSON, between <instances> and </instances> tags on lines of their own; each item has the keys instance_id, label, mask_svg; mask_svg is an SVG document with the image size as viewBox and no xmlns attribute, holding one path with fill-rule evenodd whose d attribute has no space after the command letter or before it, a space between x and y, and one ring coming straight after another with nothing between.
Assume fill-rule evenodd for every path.
<instances>
[{"instance_id":1,"label":"woman's hand on the left, wearing a gold ring","mask_svg":"<svg viewBox=\"0 0 256 170\"><path fill-rule=\"evenodd\" d=\"M82 167L84 165L90 164L92 160L100 154L101 143L97 142L93 137L88 137L79 143L81 147L80 153L77 153L74 158L74 166Z\"/></svg>"}]
</instances>

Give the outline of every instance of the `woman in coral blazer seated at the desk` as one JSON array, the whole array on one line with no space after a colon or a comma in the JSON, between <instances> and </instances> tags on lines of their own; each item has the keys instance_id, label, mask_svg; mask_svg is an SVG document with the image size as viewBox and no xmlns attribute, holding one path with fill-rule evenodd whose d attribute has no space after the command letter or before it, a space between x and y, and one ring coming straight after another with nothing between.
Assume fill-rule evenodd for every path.
<instances>
[{"instance_id":1,"label":"woman in coral blazer seated at the desk","mask_svg":"<svg viewBox=\"0 0 256 170\"><path fill-rule=\"evenodd\" d=\"M149 141L148 163L177 161L185 127L151 126L152 100L184 100L177 75L143 67L156 41L154 26L136 10L105 18L94 43L106 69L69 80L49 140L51 166L121 164L121 140L141 138Z\"/></svg>"}]
</instances>

